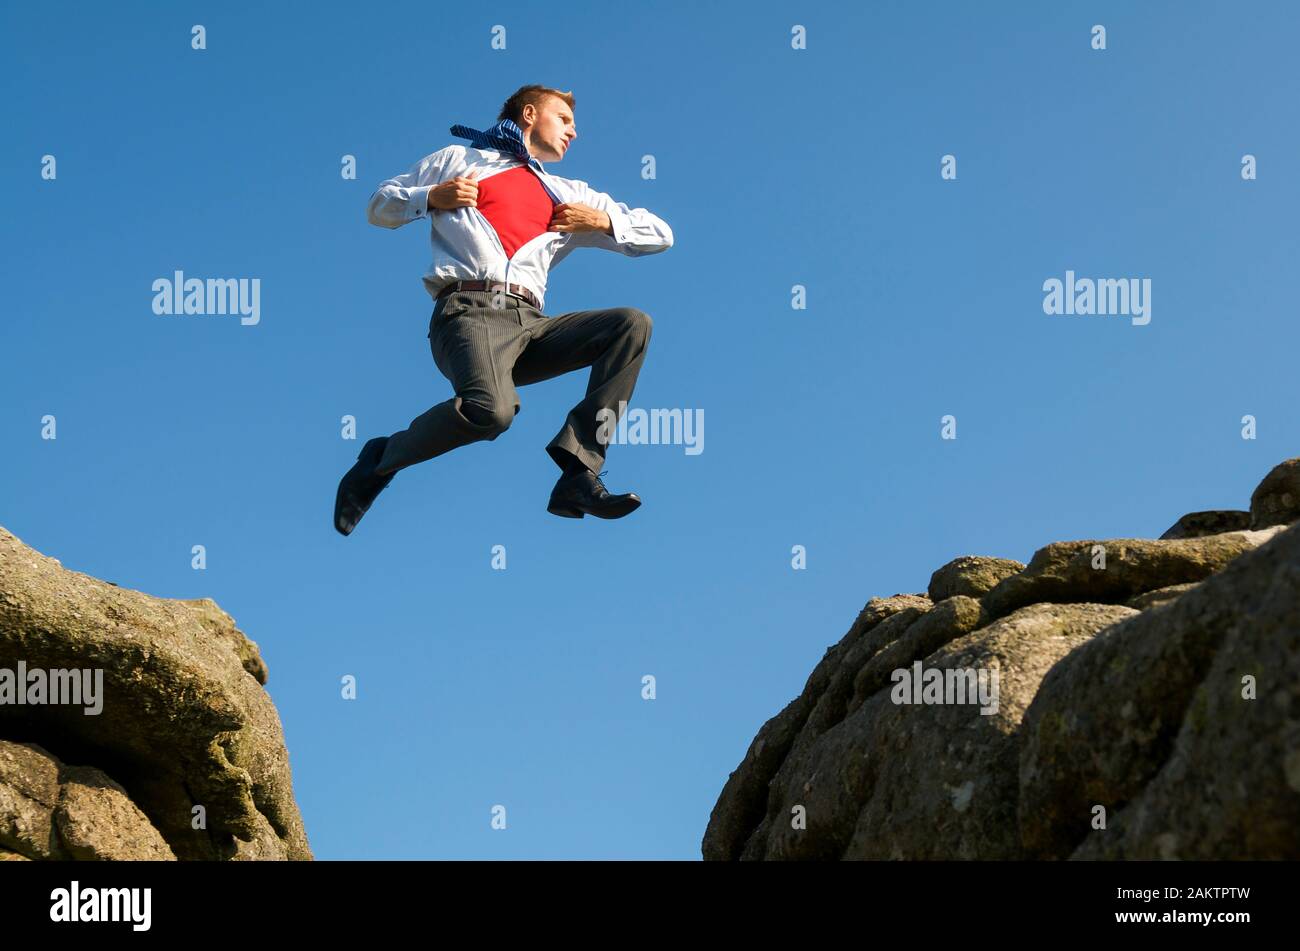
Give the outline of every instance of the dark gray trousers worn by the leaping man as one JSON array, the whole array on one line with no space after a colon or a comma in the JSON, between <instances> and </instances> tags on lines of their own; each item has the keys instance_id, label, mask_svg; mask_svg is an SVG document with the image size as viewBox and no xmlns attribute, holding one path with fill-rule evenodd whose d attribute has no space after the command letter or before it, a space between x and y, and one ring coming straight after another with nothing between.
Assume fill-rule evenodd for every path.
<instances>
[{"instance_id":1,"label":"dark gray trousers worn by the leaping man","mask_svg":"<svg viewBox=\"0 0 1300 951\"><path fill-rule=\"evenodd\" d=\"M389 437L376 473L495 439L519 412L516 386L590 366L586 396L569 411L546 452L562 469L576 457L599 474L606 447L597 431L602 418L618 421L620 400L632 399L650 343L650 316L615 307L546 317L508 294L499 295L503 308L493 308L493 291L454 291L438 300L429 320L429 348L456 395ZM612 414L598 417L601 409Z\"/></svg>"}]
</instances>

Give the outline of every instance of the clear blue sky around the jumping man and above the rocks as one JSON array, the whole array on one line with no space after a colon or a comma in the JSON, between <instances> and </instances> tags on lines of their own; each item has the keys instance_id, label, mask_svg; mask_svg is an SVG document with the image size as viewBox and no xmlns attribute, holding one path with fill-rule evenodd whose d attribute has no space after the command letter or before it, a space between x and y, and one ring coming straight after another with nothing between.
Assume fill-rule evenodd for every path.
<instances>
[{"instance_id":1,"label":"clear blue sky around the jumping man and above the rocks","mask_svg":"<svg viewBox=\"0 0 1300 951\"><path fill-rule=\"evenodd\" d=\"M698 859L868 598L1245 508L1297 455L1300 16L1046 6L5 5L0 524L234 616L320 859ZM573 253L546 313L650 313L633 407L702 409L705 451L614 446L606 482L642 508L549 514L584 370L342 538L360 442L451 395L428 223L372 227L367 199L530 82L576 95L547 169L676 238ZM155 316L177 269L260 278L260 323ZM1067 269L1149 278L1150 322L1045 314Z\"/></svg>"}]
</instances>

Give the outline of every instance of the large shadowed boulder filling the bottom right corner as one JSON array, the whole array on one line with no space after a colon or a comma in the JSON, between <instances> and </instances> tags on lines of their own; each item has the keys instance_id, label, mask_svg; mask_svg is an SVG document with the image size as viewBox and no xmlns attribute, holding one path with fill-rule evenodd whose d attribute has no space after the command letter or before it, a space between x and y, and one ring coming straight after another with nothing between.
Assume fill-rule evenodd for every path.
<instances>
[{"instance_id":1,"label":"large shadowed boulder filling the bottom right corner","mask_svg":"<svg viewBox=\"0 0 1300 951\"><path fill-rule=\"evenodd\" d=\"M1296 859L1300 526L1058 664L1026 715L1035 857ZM1258 695L1243 699L1243 677ZM1095 807L1105 830L1093 830Z\"/></svg>"}]
</instances>

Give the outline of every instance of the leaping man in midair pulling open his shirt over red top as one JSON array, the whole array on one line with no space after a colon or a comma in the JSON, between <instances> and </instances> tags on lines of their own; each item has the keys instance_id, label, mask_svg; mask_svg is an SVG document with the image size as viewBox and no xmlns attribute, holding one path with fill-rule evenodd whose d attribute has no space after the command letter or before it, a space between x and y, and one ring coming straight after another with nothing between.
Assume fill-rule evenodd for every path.
<instances>
[{"instance_id":1,"label":"leaping man in midair pulling open his shirt over red top","mask_svg":"<svg viewBox=\"0 0 1300 951\"><path fill-rule=\"evenodd\" d=\"M546 511L620 518L641 499L604 487L597 434L632 396L651 320L630 307L546 317L547 272L580 247L629 257L667 251L672 230L644 208L545 170L542 162L563 160L577 138L572 94L524 86L491 129L451 133L471 144L447 146L380 184L368 217L389 229L432 221L429 347L455 396L361 447L339 482L334 527L351 534L400 469L504 433L520 409L516 386L585 366L586 396L546 446L562 470Z\"/></svg>"}]
</instances>

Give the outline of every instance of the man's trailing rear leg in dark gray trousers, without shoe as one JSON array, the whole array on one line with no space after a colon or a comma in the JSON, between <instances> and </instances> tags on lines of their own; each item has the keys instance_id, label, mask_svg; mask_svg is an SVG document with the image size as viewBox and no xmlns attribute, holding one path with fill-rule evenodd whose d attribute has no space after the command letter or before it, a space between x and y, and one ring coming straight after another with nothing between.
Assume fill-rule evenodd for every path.
<instances>
[{"instance_id":1,"label":"man's trailing rear leg in dark gray trousers, without shoe","mask_svg":"<svg viewBox=\"0 0 1300 951\"><path fill-rule=\"evenodd\" d=\"M458 446L495 439L519 412L519 394L510 368L528 344L528 331L514 309L493 311L489 291L454 295L456 305L436 314L429 348L456 395L429 408L406 429L389 437L378 476L404 469ZM469 307L460 304L472 299ZM484 307L477 303L481 299Z\"/></svg>"}]
</instances>

